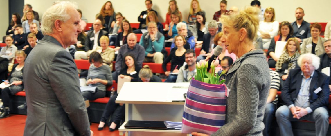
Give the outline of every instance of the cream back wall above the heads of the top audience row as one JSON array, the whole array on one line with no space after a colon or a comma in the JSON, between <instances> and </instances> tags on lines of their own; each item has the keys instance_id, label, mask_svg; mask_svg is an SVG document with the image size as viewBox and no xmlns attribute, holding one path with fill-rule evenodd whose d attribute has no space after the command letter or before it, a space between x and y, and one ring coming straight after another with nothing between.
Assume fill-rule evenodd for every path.
<instances>
[{"instance_id":1,"label":"cream back wall above the heads of the top audience row","mask_svg":"<svg viewBox=\"0 0 331 136\"><path fill-rule=\"evenodd\" d=\"M94 17L100 12L101 7L106 0L74 0L78 3L78 7L83 12L83 16L92 23ZM115 12L121 12L131 23L138 22L140 12L146 10L145 0L111 0ZM228 0L227 9L231 6L243 8L250 5L252 0ZM53 0L25 0L25 4L31 4L34 11L42 13L52 5ZM179 11L182 12L183 18L187 21L188 13L190 10L191 0L177 0ZM213 14L219 10L220 0L200 0L200 7L206 12L207 21L211 21ZM308 22L327 22L331 20L331 0L260 0L261 7L273 7L275 9L276 20L289 21L295 20L294 12L297 7L302 7L305 10L304 19ZM3 5L3 4L1 4ZM8 5L8 4L7 4ZM3 7L3 6L1 6ZM8 7L8 6L7 6ZM6 8L7 8L6 7ZM159 19L164 22L167 9L168 0L153 0L153 7L159 13ZM1 9L3 10L3 9ZM7 10L8 15L8 10ZM3 31L2 31L3 32Z\"/></svg>"}]
</instances>

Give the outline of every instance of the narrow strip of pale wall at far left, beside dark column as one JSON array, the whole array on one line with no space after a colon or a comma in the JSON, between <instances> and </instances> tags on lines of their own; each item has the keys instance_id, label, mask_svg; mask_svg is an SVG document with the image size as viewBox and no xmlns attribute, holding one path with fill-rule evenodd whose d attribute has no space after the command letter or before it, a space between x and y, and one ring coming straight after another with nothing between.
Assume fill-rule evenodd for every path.
<instances>
[{"instance_id":1,"label":"narrow strip of pale wall at far left, beside dark column","mask_svg":"<svg viewBox=\"0 0 331 136\"><path fill-rule=\"evenodd\" d=\"M6 30L8 28L8 14L9 14L9 3L8 0L4 0L0 4L0 18L1 22L0 23L0 41L2 41L2 37L6 35Z\"/></svg>"}]
</instances>

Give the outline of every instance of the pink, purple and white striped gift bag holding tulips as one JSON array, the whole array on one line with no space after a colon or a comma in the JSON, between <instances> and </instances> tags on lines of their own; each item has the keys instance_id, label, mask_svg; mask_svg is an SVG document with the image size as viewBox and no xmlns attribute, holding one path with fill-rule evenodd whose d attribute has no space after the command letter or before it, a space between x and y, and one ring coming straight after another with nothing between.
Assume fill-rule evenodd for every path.
<instances>
[{"instance_id":1,"label":"pink, purple and white striped gift bag holding tulips","mask_svg":"<svg viewBox=\"0 0 331 136\"><path fill-rule=\"evenodd\" d=\"M182 133L215 133L225 124L226 86L192 79L185 100Z\"/></svg>"}]
</instances>

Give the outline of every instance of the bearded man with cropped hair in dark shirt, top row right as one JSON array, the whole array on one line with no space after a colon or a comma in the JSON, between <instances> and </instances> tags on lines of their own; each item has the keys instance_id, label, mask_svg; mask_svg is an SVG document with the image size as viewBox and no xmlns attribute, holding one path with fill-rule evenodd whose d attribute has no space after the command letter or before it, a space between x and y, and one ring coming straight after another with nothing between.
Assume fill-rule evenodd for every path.
<instances>
[{"instance_id":1,"label":"bearded man with cropped hair in dark shirt, top row right","mask_svg":"<svg viewBox=\"0 0 331 136\"><path fill-rule=\"evenodd\" d=\"M304 10L298 7L295 10L295 17L297 20L291 23L293 27L293 37L295 37L299 43L301 43L305 38L311 37L310 35L310 23L304 20Z\"/></svg>"}]
</instances>

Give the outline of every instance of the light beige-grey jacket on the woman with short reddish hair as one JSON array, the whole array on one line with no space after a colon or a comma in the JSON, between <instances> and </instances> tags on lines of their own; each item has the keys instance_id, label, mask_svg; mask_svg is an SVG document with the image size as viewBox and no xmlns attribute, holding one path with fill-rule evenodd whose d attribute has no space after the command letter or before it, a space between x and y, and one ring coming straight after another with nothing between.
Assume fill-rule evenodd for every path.
<instances>
[{"instance_id":1,"label":"light beige-grey jacket on the woman with short reddish hair","mask_svg":"<svg viewBox=\"0 0 331 136\"><path fill-rule=\"evenodd\" d=\"M324 47L323 47L324 41L325 41L324 38L318 37L318 42L317 42L317 45L315 47L315 54L317 56L322 55L323 53L325 53L325 50L324 50ZM311 45L311 42L312 42L312 37L304 39L304 41L301 45L301 54L311 53L312 46L309 46L307 48L307 45Z\"/></svg>"}]
</instances>

